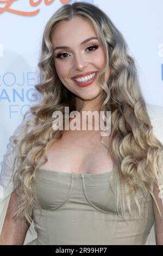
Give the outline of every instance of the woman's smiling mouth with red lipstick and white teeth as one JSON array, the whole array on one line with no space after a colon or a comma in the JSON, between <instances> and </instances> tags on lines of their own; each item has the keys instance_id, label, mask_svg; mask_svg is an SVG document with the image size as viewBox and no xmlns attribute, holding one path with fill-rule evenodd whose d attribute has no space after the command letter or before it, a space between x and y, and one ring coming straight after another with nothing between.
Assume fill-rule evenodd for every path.
<instances>
[{"instance_id":1,"label":"woman's smiling mouth with red lipstick and white teeth","mask_svg":"<svg viewBox=\"0 0 163 256\"><path fill-rule=\"evenodd\" d=\"M87 74L86 76L85 74L83 74L83 75L78 75L72 78L73 81L77 84L77 86L86 87L86 86L89 86L91 83L93 83L93 81L95 81L97 72L88 72L86 74Z\"/></svg>"}]
</instances>

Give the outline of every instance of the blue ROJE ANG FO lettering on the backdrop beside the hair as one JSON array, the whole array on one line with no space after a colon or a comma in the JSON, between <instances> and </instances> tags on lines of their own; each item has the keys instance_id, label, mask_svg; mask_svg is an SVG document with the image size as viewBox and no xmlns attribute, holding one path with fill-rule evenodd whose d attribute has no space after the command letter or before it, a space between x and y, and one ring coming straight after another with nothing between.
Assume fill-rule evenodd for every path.
<instances>
[{"instance_id":1,"label":"blue ROJE ANG FO lettering on the backdrop beside the hair","mask_svg":"<svg viewBox=\"0 0 163 256\"><path fill-rule=\"evenodd\" d=\"M6 72L0 76L0 102L9 103L10 119L20 114L23 117L30 108L30 103L40 100L41 95L34 88L37 83L39 79L36 80L35 72L23 72L21 77L17 77L14 72Z\"/></svg>"}]
</instances>

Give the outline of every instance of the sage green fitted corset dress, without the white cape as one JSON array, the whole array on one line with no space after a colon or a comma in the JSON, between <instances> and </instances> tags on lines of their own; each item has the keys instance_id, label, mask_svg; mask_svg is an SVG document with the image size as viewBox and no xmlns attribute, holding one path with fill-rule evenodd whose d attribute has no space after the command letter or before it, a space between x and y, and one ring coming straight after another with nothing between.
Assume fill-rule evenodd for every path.
<instances>
[{"instance_id":1,"label":"sage green fitted corset dress, without the white cape","mask_svg":"<svg viewBox=\"0 0 163 256\"><path fill-rule=\"evenodd\" d=\"M152 197L138 194L125 220L116 212L114 172L78 174L39 169L34 224L27 245L145 245L154 223Z\"/></svg>"}]
</instances>

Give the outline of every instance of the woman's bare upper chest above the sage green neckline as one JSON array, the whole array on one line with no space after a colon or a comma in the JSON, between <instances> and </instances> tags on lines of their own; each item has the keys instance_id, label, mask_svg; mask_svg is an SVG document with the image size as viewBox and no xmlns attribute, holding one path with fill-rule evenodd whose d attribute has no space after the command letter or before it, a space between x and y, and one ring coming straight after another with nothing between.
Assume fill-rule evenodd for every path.
<instances>
[{"instance_id":1,"label":"woman's bare upper chest above the sage green neckline","mask_svg":"<svg viewBox=\"0 0 163 256\"><path fill-rule=\"evenodd\" d=\"M109 147L109 137L102 137ZM48 161L41 168L74 173L104 173L112 170L108 149L97 131L66 131L47 151Z\"/></svg>"}]
</instances>

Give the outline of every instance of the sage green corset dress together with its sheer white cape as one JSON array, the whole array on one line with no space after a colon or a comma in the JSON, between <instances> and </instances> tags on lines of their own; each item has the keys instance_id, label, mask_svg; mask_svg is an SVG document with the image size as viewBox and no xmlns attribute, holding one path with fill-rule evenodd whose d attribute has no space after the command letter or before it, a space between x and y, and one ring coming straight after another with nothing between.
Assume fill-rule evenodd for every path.
<instances>
[{"instance_id":1,"label":"sage green corset dress together with its sheer white cape","mask_svg":"<svg viewBox=\"0 0 163 256\"><path fill-rule=\"evenodd\" d=\"M153 133L163 145L163 107L148 103L146 107ZM10 138L2 164L0 235L14 191L12 175L18 167L18 162L14 165L18 154L14 139L24 136L23 127L22 121ZM146 244L156 244L151 195L138 195L142 216L138 216L133 203L133 216L126 216L124 221L116 213L117 185L111 173L76 174L39 169L37 181L34 223L27 231L24 245L144 245L146 239Z\"/></svg>"}]
</instances>

